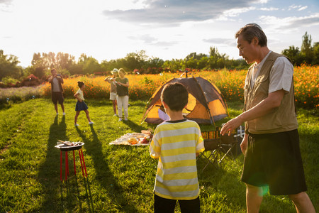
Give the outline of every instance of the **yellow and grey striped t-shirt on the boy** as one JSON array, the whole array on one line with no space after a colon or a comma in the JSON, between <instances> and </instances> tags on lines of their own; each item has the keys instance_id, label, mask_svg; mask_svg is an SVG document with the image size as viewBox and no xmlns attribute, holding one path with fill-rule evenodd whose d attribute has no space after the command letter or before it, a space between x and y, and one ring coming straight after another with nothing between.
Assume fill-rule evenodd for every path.
<instances>
[{"instance_id":1,"label":"yellow and grey striped t-shirt on the boy","mask_svg":"<svg viewBox=\"0 0 319 213\"><path fill-rule=\"evenodd\" d=\"M154 192L172 200L193 200L199 195L196 153L205 148L195 121L165 121L155 129L150 155L159 158Z\"/></svg>"}]
</instances>

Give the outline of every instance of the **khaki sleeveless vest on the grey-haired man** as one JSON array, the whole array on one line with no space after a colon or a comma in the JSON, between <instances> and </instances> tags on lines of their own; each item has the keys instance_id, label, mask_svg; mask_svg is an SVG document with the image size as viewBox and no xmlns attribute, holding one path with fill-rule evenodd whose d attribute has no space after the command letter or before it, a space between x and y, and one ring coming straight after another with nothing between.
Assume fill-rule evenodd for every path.
<instances>
[{"instance_id":1,"label":"khaki sleeveless vest on the grey-haired man","mask_svg":"<svg viewBox=\"0 0 319 213\"><path fill-rule=\"evenodd\" d=\"M250 67L248 70L244 88L245 111L256 106L259 102L268 97L270 70L272 70L275 60L280 56L284 55L274 52L268 55L253 87L251 87L253 69ZM245 122L246 133L277 133L297 129L298 122L294 101L292 82L290 92L284 94L280 107L272 109L272 111L265 116Z\"/></svg>"}]
</instances>

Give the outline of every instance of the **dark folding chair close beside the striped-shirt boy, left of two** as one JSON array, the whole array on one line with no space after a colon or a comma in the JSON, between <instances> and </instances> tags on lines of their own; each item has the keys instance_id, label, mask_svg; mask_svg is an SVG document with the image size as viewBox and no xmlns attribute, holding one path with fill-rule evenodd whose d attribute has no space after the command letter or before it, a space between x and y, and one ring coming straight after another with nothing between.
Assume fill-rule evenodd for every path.
<instances>
[{"instance_id":1,"label":"dark folding chair close beside the striped-shirt boy, left of two","mask_svg":"<svg viewBox=\"0 0 319 213\"><path fill-rule=\"evenodd\" d=\"M214 165L218 168L218 155L220 153L220 139L219 139L219 131L206 131L202 132L203 143L205 147L205 151L198 155L197 159L206 160L206 165L201 170L205 170L209 164ZM209 153L207 156L206 153Z\"/></svg>"}]
</instances>

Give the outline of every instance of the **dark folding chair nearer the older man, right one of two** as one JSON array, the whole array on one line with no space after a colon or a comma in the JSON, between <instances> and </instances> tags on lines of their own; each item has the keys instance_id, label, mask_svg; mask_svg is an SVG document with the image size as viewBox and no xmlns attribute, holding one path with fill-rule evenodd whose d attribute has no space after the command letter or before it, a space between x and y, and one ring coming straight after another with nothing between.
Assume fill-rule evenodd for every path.
<instances>
[{"instance_id":1,"label":"dark folding chair nearer the older man, right one of two","mask_svg":"<svg viewBox=\"0 0 319 213\"><path fill-rule=\"evenodd\" d=\"M220 128L218 128L220 129ZM230 136L224 135L220 136L220 151L223 152L222 156L220 157L220 160L218 163L220 164L224 160L226 156L229 156L233 160L235 160L235 156L233 154L233 150L235 149L235 155L237 155L237 144L242 141L242 138L245 136L245 131L242 126L235 129L232 133L230 133Z\"/></svg>"}]
</instances>

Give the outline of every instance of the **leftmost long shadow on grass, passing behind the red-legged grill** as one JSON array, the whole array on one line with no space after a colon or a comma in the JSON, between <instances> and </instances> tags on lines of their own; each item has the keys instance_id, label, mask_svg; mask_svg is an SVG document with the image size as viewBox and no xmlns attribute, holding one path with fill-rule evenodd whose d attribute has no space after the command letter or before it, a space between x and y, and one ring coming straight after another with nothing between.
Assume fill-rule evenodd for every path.
<instances>
[{"instance_id":1,"label":"leftmost long shadow on grass, passing behind the red-legged grill","mask_svg":"<svg viewBox=\"0 0 319 213\"><path fill-rule=\"evenodd\" d=\"M55 116L53 124L50 126L50 134L47 140L47 153L43 165L39 168L38 178L42 185L43 201L38 209L33 212L73 212L75 207L79 207L80 212L87 212L82 209L82 203L85 201L81 199L79 192L79 184L77 176L70 176L67 181L60 180L60 151L55 148L57 140L68 141L67 125L65 124L65 116L62 116L60 123L58 116ZM62 160L65 163L65 157L62 153ZM69 155L71 156L71 155ZM73 156L72 156L73 158ZM72 168L73 160L69 158L69 166ZM62 178L64 178L62 164ZM73 175L73 170L69 170L70 175ZM85 188L89 188L89 182L84 180ZM59 192L60 191L60 192ZM89 207L89 212L93 204L91 204L91 193L86 190L86 202Z\"/></svg>"}]
</instances>

